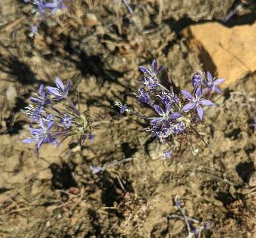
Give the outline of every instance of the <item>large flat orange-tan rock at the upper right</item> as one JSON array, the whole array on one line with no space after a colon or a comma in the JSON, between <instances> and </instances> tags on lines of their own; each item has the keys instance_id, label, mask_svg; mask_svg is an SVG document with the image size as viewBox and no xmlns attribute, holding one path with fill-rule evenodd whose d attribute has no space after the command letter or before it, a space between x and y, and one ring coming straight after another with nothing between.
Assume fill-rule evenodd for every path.
<instances>
[{"instance_id":1,"label":"large flat orange-tan rock at the upper right","mask_svg":"<svg viewBox=\"0 0 256 238\"><path fill-rule=\"evenodd\" d=\"M194 24L182 32L204 70L226 81L221 87L256 71L256 22L228 28L217 22Z\"/></svg>"}]
</instances>

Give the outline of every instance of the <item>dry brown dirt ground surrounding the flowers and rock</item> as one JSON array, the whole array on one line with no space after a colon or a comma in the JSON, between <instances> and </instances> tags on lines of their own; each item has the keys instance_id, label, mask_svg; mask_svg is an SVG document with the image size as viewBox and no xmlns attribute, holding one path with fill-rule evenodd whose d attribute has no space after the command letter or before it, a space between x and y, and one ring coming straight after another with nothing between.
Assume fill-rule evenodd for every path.
<instances>
[{"instance_id":1,"label":"dry brown dirt ground surrounding the flowers and rock","mask_svg":"<svg viewBox=\"0 0 256 238\"><path fill-rule=\"evenodd\" d=\"M176 195L189 217L214 223L202 237L256 237L255 72L206 110L198 131L207 146L191 136L171 159L162 159L166 145L141 131L143 120L113 106L120 100L138 107L138 65L153 58L189 89L192 74L208 65L181 30L220 22L240 2L133 0L134 16L122 1L66 2L68 9L44 19L34 38L33 7L0 2L0 237L185 238L185 223L169 218L179 214ZM252 1L226 26L253 21ZM21 142L29 122L22 109L40 83L54 85L56 77L72 82L81 110L109 123L83 146L67 140L36 155L34 145ZM107 169L93 175L91 165Z\"/></svg>"}]
</instances>

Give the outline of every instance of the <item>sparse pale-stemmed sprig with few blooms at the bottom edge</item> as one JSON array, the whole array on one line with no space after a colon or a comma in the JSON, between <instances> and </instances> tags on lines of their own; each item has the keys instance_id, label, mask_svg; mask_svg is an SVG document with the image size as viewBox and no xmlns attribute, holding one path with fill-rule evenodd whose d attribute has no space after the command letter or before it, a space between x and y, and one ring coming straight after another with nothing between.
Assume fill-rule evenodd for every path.
<instances>
[{"instance_id":1,"label":"sparse pale-stemmed sprig with few blooms at the bottom edge","mask_svg":"<svg viewBox=\"0 0 256 238\"><path fill-rule=\"evenodd\" d=\"M187 225L187 231L189 235L186 238L192 238L192 237L198 237L200 238L203 231L210 230L210 228L214 225L211 221L198 221L198 219L189 218L185 214L185 210L181 207L181 201L179 199L179 196L175 196L175 206L177 210L181 213L181 215L173 214L171 216L168 216L169 218L177 218L177 219L183 219ZM192 229L192 225L194 226L194 229Z\"/></svg>"}]
</instances>

